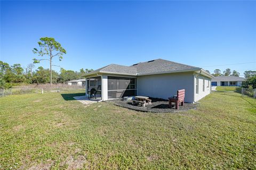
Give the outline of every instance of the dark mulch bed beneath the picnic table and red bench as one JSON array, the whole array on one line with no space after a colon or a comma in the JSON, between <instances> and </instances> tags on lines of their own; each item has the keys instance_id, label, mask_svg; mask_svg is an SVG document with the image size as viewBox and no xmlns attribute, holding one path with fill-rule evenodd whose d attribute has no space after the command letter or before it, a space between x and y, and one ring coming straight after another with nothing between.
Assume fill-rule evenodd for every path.
<instances>
[{"instance_id":1,"label":"dark mulch bed beneath the picnic table and red bench","mask_svg":"<svg viewBox=\"0 0 256 170\"><path fill-rule=\"evenodd\" d=\"M111 103L114 103L117 106L125 107L132 109L134 111L140 111L140 112L153 112L153 113L170 113L170 112L182 112L182 111L188 111L191 109L196 109L198 107L198 104L191 104L191 103L185 103L184 106L180 106L179 110L175 109L175 106L173 104L172 108L169 108L168 101L164 99L156 99L156 98L150 98L152 100L151 105L146 105L145 107L132 105L132 101L126 101L126 100L111 100Z\"/></svg>"}]
</instances>

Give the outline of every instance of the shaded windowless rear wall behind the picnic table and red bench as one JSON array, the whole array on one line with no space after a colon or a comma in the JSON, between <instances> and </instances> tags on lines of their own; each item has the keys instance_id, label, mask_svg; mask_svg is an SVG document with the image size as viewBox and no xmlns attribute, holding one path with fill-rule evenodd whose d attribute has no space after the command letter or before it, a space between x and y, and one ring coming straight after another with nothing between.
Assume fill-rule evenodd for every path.
<instances>
[{"instance_id":1,"label":"shaded windowless rear wall behind the picnic table and red bench","mask_svg":"<svg viewBox=\"0 0 256 170\"><path fill-rule=\"evenodd\" d=\"M185 89L185 102L193 103L193 78L193 72L138 76L137 95L168 99Z\"/></svg>"}]
</instances>

